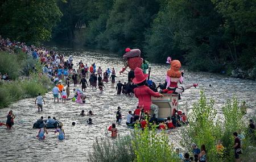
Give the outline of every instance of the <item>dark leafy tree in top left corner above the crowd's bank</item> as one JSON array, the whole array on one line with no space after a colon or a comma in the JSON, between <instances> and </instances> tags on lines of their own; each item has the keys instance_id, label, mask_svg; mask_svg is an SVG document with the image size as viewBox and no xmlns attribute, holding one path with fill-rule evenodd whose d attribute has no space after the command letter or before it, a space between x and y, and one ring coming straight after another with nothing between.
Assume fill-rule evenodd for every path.
<instances>
[{"instance_id":1,"label":"dark leafy tree in top left corner above the crowd's bank","mask_svg":"<svg viewBox=\"0 0 256 162\"><path fill-rule=\"evenodd\" d=\"M0 34L28 44L49 40L62 15L57 0L8 0L0 4Z\"/></svg>"}]
</instances>

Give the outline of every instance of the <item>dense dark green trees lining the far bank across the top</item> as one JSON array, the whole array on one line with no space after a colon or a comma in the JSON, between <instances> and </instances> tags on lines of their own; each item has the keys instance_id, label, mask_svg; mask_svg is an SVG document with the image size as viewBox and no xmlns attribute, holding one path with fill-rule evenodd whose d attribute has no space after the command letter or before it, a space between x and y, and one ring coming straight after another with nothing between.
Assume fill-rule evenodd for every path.
<instances>
[{"instance_id":1,"label":"dense dark green trees lining the far bank across the top","mask_svg":"<svg viewBox=\"0 0 256 162\"><path fill-rule=\"evenodd\" d=\"M34 43L75 40L120 55L139 48L164 63L167 56L193 70L256 77L255 0L1 1L0 34ZM250 76L250 75L249 75Z\"/></svg>"}]
</instances>

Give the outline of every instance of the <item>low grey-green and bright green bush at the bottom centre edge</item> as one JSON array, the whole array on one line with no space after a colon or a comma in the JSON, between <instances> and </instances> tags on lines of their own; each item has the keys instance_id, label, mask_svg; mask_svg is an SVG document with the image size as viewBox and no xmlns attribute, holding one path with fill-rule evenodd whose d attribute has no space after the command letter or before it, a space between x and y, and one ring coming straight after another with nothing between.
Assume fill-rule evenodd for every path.
<instances>
[{"instance_id":1,"label":"low grey-green and bright green bush at the bottom centre edge","mask_svg":"<svg viewBox=\"0 0 256 162\"><path fill-rule=\"evenodd\" d=\"M131 135L117 139L96 138L90 161L180 161L172 148L164 131L135 128Z\"/></svg>"}]
</instances>

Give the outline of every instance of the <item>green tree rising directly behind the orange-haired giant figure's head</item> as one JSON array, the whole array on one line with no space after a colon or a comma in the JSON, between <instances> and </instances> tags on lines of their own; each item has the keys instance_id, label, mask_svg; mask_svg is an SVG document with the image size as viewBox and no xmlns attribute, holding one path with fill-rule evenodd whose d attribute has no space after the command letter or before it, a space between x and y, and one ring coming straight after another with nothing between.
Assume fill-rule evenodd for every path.
<instances>
[{"instance_id":1,"label":"green tree rising directly behind the orange-haired giant figure's head","mask_svg":"<svg viewBox=\"0 0 256 162\"><path fill-rule=\"evenodd\" d=\"M163 1L160 11L152 27L146 34L146 44L144 50L147 57L154 62L164 63L168 56L172 59L184 61L185 51L179 48L179 44L174 40L175 33L181 27L180 15L183 15L183 1Z\"/></svg>"}]
</instances>

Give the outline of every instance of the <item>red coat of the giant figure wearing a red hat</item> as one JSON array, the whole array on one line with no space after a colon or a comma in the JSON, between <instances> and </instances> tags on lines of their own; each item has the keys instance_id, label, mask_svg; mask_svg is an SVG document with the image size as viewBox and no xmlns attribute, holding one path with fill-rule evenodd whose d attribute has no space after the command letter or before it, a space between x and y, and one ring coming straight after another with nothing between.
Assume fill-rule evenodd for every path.
<instances>
[{"instance_id":1,"label":"red coat of the giant figure wearing a red hat","mask_svg":"<svg viewBox=\"0 0 256 162\"><path fill-rule=\"evenodd\" d=\"M160 97L160 93L154 92L148 86L143 85L134 89L135 97L139 99L138 106L144 105L144 110L149 111L152 104L151 96Z\"/></svg>"}]
</instances>

